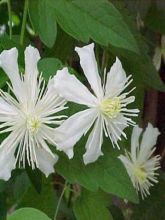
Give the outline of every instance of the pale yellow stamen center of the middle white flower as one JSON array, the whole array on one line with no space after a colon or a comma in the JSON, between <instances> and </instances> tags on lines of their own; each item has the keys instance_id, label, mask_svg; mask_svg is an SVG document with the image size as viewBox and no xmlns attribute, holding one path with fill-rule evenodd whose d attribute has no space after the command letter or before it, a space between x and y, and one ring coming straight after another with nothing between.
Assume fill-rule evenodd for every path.
<instances>
[{"instance_id":1,"label":"pale yellow stamen center of the middle white flower","mask_svg":"<svg viewBox=\"0 0 165 220\"><path fill-rule=\"evenodd\" d=\"M121 109L120 98L104 99L100 104L101 112L109 118L115 118Z\"/></svg>"}]
</instances>

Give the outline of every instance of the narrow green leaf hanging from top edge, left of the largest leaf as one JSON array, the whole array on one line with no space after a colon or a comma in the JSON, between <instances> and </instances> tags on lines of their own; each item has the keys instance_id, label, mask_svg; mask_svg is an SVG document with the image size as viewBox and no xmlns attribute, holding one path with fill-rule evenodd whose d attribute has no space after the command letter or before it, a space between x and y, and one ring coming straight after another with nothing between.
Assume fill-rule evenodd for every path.
<instances>
[{"instance_id":1,"label":"narrow green leaf hanging from top edge, left of the largest leaf","mask_svg":"<svg viewBox=\"0 0 165 220\"><path fill-rule=\"evenodd\" d=\"M53 47L57 35L57 24L52 8L48 6L46 0L32 0L29 3L30 16L35 31L47 47Z\"/></svg>"}]
</instances>

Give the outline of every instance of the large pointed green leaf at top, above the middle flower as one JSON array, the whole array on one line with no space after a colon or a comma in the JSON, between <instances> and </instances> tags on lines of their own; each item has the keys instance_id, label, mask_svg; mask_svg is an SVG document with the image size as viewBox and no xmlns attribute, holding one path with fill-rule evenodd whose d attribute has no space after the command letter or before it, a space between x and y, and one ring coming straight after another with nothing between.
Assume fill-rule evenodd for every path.
<instances>
[{"instance_id":1,"label":"large pointed green leaf at top, above the middle flower","mask_svg":"<svg viewBox=\"0 0 165 220\"><path fill-rule=\"evenodd\" d=\"M101 45L109 44L139 53L129 27L121 13L107 0L51 0L47 2L58 24L72 37Z\"/></svg>"}]
</instances>

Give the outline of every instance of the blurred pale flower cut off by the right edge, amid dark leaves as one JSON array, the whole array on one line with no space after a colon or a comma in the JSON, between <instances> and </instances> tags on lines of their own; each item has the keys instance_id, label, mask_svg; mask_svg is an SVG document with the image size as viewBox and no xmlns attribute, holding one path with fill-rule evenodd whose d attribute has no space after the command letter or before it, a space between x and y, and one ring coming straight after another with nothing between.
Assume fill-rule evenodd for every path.
<instances>
[{"instance_id":1,"label":"blurred pale flower cut off by the right edge, amid dark leaves","mask_svg":"<svg viewBox=\"0 0 165 220\"><path fill-rule=\"evenodd\" d=\"M161 37L161 45L156 47L153 57L153 64L157 71L160 69L161 59L165 62L165 36Z\"/></svg>"}]
</instances>

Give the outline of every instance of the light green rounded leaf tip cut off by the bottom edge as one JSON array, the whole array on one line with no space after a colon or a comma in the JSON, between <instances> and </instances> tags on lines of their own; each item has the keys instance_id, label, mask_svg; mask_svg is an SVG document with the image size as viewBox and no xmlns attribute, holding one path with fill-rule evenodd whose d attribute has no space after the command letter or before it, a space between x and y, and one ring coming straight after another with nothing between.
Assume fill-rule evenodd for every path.
<instances>
[{"instance_id":1,"label":"light green rounded leaf tip cut off by the bottom edge","mask_svg":"<svg viewBox=\"0 0 165 220\"><path fill-rule=\"evenodd\" d=\"M8 216L7 220L50 220L50 218L37 209L22 208Z\"/></svg>"}]
</instances>

